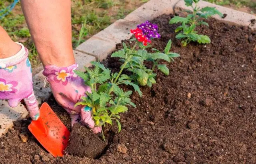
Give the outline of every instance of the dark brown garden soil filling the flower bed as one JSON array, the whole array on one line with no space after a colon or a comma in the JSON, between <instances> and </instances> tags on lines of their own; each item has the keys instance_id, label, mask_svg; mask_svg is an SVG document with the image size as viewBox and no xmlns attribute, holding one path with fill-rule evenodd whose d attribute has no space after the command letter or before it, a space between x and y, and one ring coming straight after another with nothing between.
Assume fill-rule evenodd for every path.
<instances>
[{"instance_id":1,"label":"dark brown garden soil filling the flower bed","mask_svg":"<svg viewBox=\"0 0 256 164\"><path fill-rule=\"evenodd\" d=\"M169 76L157 72L157 84L141 88L142 98L132 95L137 108L121 115L120 133L116 127L104 129L110 140L101 157L55 159L28 132L29 120L23 120L0 138L0 163L255 163L256 32L212 19L209 28L198 28L212 42L184 48L170 18L152 21L162 35L152 45L163 50L172 39L172 52L181 57L168 64ZM114 58L105 63L113 70L120 66ZM70 128L66 112L53 98L48 103Z\"/></svg>"}]
</instances>

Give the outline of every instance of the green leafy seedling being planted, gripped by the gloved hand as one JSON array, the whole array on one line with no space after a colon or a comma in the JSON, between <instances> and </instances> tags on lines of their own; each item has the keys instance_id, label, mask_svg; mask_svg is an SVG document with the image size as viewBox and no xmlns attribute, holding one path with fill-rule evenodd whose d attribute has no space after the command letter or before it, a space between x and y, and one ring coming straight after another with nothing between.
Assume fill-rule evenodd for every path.
<instances>
[{"instance_id":1,"label":"green leafy seedling being planted, gripped by the gloved hand","mask_svg":"<svg viewBox=\"0 0 256 164\"><path fill-rule=\"evenodd\" d=\"M132 91L124 92L118 87L120 84L132 85L141 96L141 91L138 85L131 83L127 75L119 73L112 73L110 69L104 67L103 64L92 61L94 69L85 67L86 72L75 71L78 76L84 79L85 85L90 86L92 93L86 93L87 97L82 97L82 101L76 103L77 105L85 105L92 110L92 117L95 126L105 126L106 123L113 124L116 121L118 125L118 132L121 130L121 123L119 121L120 113L128 111L128 106L133 106L134 103L130 100ZM103 139L105 140L103 131Z\"/></svg>"}]
</instances>

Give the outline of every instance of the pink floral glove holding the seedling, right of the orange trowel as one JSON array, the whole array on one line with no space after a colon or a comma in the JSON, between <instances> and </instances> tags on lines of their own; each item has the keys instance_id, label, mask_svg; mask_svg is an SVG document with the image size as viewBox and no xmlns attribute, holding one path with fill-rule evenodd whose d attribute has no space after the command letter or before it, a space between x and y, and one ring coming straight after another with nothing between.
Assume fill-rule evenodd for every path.
<instances>
[{"instance_id":1,"label":"pink floral glove holding the seedling, right of the orange trowel","mask_svg":"<svg viewBox=\"0 0 256 164\"><path fill-rule=\"evenodd\" d=\"M81 105L74 107L82 96L86 96L86 92L91 92L90 87L84 85L83 79L74 73L77 67L77 64L62 68L48 65L44 68L43 74L50 83L52 93L58 104L70 114L72 126L81 120L82 123L92 128L94 133L101 132L101 128L94 127L95 123L92 120L90 107Z\"/></svg>"}]
</instances>

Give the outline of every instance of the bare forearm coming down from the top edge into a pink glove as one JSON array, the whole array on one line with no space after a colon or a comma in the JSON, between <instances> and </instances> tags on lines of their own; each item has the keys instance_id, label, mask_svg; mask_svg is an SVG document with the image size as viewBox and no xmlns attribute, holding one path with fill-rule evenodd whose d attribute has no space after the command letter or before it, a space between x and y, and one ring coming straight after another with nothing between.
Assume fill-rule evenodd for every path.
<instances>
[{"instance_id":1,"label":"bare forearm coming down from the top edge into a pink glove","mask_svg":"<svg viewBox=\"0 0 256 164\"><path fill-rule=\"evenodd\" d=\"M43 65L74 64L70 0L21 0L21 5Z\"/></svg>"}]
</instances>

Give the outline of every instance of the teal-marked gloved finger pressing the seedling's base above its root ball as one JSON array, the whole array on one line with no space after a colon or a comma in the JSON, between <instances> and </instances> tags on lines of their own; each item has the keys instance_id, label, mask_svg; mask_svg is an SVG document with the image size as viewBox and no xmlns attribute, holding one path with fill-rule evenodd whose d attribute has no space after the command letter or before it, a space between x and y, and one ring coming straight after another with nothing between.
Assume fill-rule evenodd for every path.
<instances>
[{"instance_id":1,"label":"teal-marked gloved finger pressing the seedling's base above its root ball","mask_svg":"<svg viewBox=\"0 0 256 164\"><path fill-rule=\"evenodd\" d=\"M94 128L94 121L92 120L92 108L86 106L81 109L81 121L89 128Z\"/></svg>"}]
</instances>

